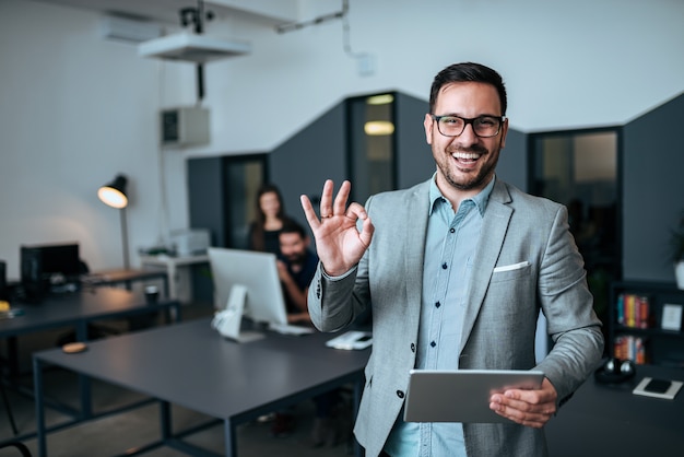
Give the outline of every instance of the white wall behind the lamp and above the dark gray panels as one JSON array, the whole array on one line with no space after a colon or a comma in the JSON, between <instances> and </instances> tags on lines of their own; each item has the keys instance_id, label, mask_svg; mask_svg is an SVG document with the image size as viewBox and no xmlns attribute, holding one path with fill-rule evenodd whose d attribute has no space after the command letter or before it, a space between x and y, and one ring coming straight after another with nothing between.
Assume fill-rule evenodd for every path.
<instances>
[{"instance_id":1,"label":"white wall behind the lamp and above the dark gray panels","mask_svg":"<svg viewBox=\"0 0 684 457\"><path fill-rule=\"evenodd\" d=\"M302 19L340 3L302 0ZM511 126L522 131L622 125L684 91L680 0L350 5L350 43L374 57L370 77L345 55L341 21L286 34L209 23L209 34L248 40L253 51L205 67L211 144L161 151L157 112L194 103L192 65L142 59L134 46L101 38L97 13L0 0L0 259L8 276L19 278L20 244L71 239L92 268L120 267L119 215L95 195L118 172L130 178L131 250L151 246L187 226L187 156L272 150L350 95L400 90L427 98L433 75L455 61L502 72ZM315 147L325 153L326 144Z\"/></svg>"}]
</instances>

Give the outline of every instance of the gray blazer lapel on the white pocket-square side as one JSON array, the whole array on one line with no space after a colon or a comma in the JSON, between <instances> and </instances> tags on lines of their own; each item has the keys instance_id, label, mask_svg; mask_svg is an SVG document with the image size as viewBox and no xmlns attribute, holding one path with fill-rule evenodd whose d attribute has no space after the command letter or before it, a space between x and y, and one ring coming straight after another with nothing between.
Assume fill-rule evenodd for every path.
<instances>
[{"instance_id":1,"label":"gray blazer lapel on the white pocket-square side","mask_svg":"<svg viewBox=\"0 0 684 457\"><path fill-rule=\"evenodd\" d=\"M461 351L465 347L468 337L475 325L484 295L490 286L492 271L496 266L512 209L508 203L511 201L506 185L496 180L487 209L484 212L482 233L475 249L473 271L470 277L468 306L463 315L463 333L461 337Z\"/></svg>"}]
</instances>

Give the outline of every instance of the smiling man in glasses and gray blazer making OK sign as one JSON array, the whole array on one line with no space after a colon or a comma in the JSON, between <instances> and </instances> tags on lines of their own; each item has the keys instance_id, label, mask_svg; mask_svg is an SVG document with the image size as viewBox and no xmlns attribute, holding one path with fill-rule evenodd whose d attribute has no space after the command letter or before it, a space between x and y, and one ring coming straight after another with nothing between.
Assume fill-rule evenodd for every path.
<instances>
[{"instance_id":1,"label":"smiling man in glasses and gray blazer making OK sign","mask_svg":"<svg viewBox=\"0 0 684 457\"><path fill-rule=\"evenodd\" d=\"M373 313L373 354L354 433L367 456L544 456L543 425L603 353L583 261L565 207L497 179L506 90L482 65L457 63L431 90L425 134L437 169L410 189L347 206L327 180L320 219L302 206L320 262L309 288L322 331ZM540 310L554 341L535 362ZM406 423L411 368L539 370L538 390L494 394L507 423ZM453 405L459 408L459 405Z\"/></svg>"}]
</instances>

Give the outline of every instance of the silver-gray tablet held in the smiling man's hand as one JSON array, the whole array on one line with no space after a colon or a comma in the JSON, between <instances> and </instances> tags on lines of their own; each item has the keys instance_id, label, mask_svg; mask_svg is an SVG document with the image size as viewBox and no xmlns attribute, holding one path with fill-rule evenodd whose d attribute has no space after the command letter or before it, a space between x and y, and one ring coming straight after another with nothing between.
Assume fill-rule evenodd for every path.
<instances>
[{"instance_id":1,"label":"silver-gray tablet held in the smiling man's hand","mask_svg":"<svg viewBox=\"0 0 684 457\"><path fill-rule=\"evenodd\" d=\"M509 388L538 389L544 374L509 370L412 370L406 422L510 422L490 409L490 397Z\"/></svg>"}]
</instances>

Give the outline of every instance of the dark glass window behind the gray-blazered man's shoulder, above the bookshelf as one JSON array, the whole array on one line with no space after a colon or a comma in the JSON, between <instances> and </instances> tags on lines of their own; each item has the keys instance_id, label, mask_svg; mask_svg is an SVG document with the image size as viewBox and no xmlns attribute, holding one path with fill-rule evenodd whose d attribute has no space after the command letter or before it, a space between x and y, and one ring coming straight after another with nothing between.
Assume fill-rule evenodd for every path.
<instances>
[{"instance_id":1,"label":"dark glass window behind the gray-blazered man's shoulder, above the bookshelf","mask_svg":"<svg viewBox=\"0 0 684 457\"><path fill-rule=\"evenodd\" d=\"M530 136L530 190L568 208L594 308L606 318L610 283L622 278L616 128Z\"/></svg>"}]
</instances>

